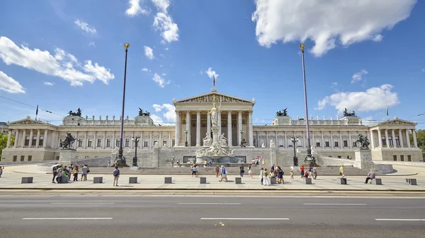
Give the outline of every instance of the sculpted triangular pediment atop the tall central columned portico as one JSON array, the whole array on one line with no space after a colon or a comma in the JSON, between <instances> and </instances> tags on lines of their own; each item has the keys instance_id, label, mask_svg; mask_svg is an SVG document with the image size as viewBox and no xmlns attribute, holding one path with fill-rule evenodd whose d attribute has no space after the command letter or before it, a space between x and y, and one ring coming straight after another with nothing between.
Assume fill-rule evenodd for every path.
<instances>
[{"instance_id":1,"label":"sculpted triangular pediment atop the tall central columned portico","mask_svg":"<svg viewBox=\"0 0 425 238\"><path fill-rule=\"evenodd\" d=\"M205 93L203 95L198 95L194 97L187 97L182 100L173 100L174 104L176 103L212 103L212 102L222 102L222 103L250 103L255 104L254 99L246 100L240 97L234 97L230 95L225 95L224 93L217 93L217 92L211 92L211 93Z\"/></svg>"}]
</instances>

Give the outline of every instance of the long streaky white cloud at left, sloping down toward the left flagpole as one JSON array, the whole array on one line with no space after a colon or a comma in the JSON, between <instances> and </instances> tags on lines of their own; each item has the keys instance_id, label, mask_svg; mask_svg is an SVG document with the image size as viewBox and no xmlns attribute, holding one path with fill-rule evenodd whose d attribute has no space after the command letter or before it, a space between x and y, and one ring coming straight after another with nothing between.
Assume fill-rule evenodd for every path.
<instances>
[{"instance_id":1,"label":"long streaky white cloud at left, sloping down toward the left flagpole","mask_svg":"<svg viewBox=\"0 0 425 238\"><path fill-rule=\"evenodd\" d=\"M91 60L84 61L84 65L77 58L56 48L55 54L29 49L21 45L18 47L7 37L0 37L0 58L6 65L16 64L26 69L33 69L50 76L57 76L71 83L71 85L83 85L83 82L94 83L96 79L108 84L115 76L103 66L97 63L91 64Z\"/></svg>"}]
</instances>

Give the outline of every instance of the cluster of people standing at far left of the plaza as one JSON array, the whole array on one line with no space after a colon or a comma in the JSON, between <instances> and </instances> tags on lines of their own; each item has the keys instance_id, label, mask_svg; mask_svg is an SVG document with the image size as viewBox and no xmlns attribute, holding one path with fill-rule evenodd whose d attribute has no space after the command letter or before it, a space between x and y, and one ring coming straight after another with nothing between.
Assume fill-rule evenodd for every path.
<instances>
[{"instance_id":1,"label":"cluster of people standing at far left of the plaza","mask_svg":"<svg viewBox=\"0 0 425 238\"><path fill-rule=\"evenodd\" d=\"M71 166L69 167L64 165L54 165L52 167L52 173L53 173L52 183L62 184L64 182L71 181L71 177L74 177L73 181L77 182L80 169L81 169L81 181L83 180L86 181L87 173L90 172L89 167L87 165L84 165L82 168L79 165L74 165L74 164L71 164Z\"/></svg>"}]
</instances>

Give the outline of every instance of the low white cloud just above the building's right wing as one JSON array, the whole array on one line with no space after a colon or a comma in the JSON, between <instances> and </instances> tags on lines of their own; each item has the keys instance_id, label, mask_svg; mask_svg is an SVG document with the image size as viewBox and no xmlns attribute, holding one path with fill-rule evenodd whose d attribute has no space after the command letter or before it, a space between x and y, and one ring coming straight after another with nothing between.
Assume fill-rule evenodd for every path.
<instances>
[{"instance_id":1,"label":"low white cloud just above the building's right wing","mask_svg":"<svg viewBox=\"0 0 425 238\"><path fill-rule=\"evenodd\" d=\"M379 88L369 88L365 92L335 93L319 100L314 109L324 109L327 105L335 107L339 112L343 112L345 108L359 112L385 109L386 105L391 107L399 104L397 93L392 92L392 88L392 85L384 84Z\"/></svg>"}]
</instances>

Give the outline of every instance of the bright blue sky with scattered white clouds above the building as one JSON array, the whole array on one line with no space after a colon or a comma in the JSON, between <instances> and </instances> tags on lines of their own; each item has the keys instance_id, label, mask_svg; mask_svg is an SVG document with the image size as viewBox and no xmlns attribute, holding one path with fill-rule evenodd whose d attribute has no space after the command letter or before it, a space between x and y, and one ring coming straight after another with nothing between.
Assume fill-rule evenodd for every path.
<instances>
[{"instance_id":1,"label":"bright blue sky with scattered white clouds above the building","mask_svg":"<svg viewBox=\"0 0 425 238\"><path fill-rule=\"evenodd\" d=\"M362 4L363 2L363 4ZM256 100L254 124L288 107L368 120L398 116L425 128L425 1L3 1L0 121L27 115L60 124L81 107L119 117L129 42L125 115L138 107L174 123L173 98L210 92ZM210 69L210 71L208 71ZM13 102L8 99L16 100Z\"/></svg>"}]
</instances>

